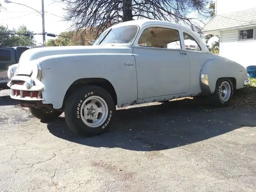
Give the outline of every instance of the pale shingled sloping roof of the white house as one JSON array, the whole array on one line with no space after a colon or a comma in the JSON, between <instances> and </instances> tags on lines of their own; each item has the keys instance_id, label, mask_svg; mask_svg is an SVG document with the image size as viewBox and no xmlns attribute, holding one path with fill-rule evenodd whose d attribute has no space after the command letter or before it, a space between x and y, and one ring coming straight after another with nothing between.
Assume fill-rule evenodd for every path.
<instances>
[{"instance_id":1,"label":"pale shingled sloping roof of the white house","mask_svg":"<svg viewBox=\"0 0 256 192\"><path fill-rule=\"evenodd\" d=\"M214 32L250 26L256 26L256 8L216 15L202 28L202 32L214 34Z\"/></svg>"}]
</instances>

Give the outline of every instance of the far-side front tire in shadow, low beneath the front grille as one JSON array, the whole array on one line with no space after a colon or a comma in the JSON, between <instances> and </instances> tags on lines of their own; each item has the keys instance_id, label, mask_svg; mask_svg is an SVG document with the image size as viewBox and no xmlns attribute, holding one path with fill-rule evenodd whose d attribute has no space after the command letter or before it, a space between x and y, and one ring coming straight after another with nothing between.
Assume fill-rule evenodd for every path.
<instances>
[{"instance_id":1,"label":"far-side front tire in shadow, low beneath the front grille","mask_svg":"<svg viewBox=\"0 0 256 192\"><path fill-rule=\"evenodd\" d=\"M45 122L52 121L52 120L58 118L58 116L60 116L62 114L61 111L51 109L51 108L32 107L32 108L30 108L30 112L34 117L36 117L42 121L45 121Z\"/></svg>"}]
</instances>

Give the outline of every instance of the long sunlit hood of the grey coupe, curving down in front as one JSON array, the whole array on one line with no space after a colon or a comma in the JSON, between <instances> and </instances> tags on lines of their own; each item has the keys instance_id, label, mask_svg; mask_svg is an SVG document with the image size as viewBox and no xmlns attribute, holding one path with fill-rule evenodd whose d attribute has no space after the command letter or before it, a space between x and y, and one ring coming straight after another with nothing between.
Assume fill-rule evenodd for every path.
<instances>
[{"instance_id":1,"label":"long sunlit hood of the grey coupe, curving down in front","mask_svg":"<svg viewBox=\"0 0 256 192\"><path fill-rule=\"evenodd\" d=\"M113 45L98 45L98 46L57 46L57 47L42 47L26 50L20 57L17 74L30 75L34 60L53 55L66 54L104 54L118 53L131 54L132 48L128 46L113 46Z\"/></svg>"}]
</instances>

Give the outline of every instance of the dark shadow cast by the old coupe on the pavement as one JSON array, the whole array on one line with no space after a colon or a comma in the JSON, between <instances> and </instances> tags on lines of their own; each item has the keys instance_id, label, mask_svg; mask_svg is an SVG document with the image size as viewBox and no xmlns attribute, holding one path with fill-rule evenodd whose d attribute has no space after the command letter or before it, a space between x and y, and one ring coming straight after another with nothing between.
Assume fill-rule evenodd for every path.
<instances>
[{"instance_id":1,"label":"dark shadow cast by the old coupe on the pavement","mask_svg":"<svg viewBox=\"0 0 256 192\"><path fill-rule=\"evenodd\" d=\"M244 126L256 126L254 114L210 108L193 100L168 102L116 111L110 130L100 136L80 137L70 132L64 118L48 124L56 137L93 147L127 150L165 150L183 146ZM247 121L248 117L251 119Z\"/></svg>"}]
</instances>

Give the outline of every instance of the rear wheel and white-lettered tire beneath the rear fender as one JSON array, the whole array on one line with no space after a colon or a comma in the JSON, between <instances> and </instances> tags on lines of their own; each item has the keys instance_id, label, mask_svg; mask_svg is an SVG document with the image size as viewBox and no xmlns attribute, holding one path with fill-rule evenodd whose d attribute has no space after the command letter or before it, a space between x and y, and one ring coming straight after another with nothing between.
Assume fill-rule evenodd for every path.
<instances>
[{"instance_id":1,"label":"rear wheel and white-lettered tire beneath the rear fender","mask_svg":"<svg viewBox=\"0 0 256 192\"><path fill-rule=\"evenodd\" d=\"M216 82L215 92L211 95L212 104L217 107L230 105L234 94L233 82L230 78L220 78Z\"/></svg>"}]
</instances>

